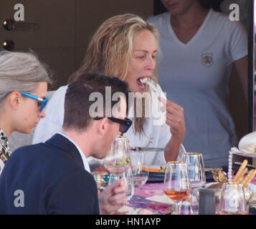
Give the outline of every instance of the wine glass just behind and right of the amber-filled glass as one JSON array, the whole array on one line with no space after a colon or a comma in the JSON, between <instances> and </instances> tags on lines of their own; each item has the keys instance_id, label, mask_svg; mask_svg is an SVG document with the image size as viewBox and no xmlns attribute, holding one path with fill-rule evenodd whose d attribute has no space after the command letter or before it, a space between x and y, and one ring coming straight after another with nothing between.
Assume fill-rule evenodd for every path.
<instances>
[{"instance_id":1,"label":"wine glass just behind and right of the amber-filled glass","mask_svg":"<svg viewBox=\"0 0 256 229\"><path fill-rule=\"evenodd\" d=\"M183 162L186 162L189 172L189 180L191 184L191 205L195 213L199 210L199 203L196 200L196 191L206 182L204 171L204 160L202 153L186 152L182 155Z\"/></svg>"}]
</instances>

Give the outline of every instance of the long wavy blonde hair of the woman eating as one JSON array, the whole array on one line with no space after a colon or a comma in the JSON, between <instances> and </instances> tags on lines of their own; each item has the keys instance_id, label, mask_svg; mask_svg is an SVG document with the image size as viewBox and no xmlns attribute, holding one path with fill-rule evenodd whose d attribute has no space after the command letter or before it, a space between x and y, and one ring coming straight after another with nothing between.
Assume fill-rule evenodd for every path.
<instances>
[{"instance_id":1,"label":"long wavy blonde hair of the woman eating","mask_svg":"<svg viewBox=\"0 0 256 229\"><path fill-rule=\"evenodd\" d=\"M103 22L91 39L82 65L77 72L70 76L68 83L78 79L85 72L98 72L125 80L131 64L134 37L145 29L151 31L155 37L156 47L160 52L158 30L140 16L121 14ZM154 69L151 76L155 82L157 82L156 72ZM148 91L148 88L146 90ZM143 132L143 125L146 122L144 104L145 99L143 99L143 117L136 117L134 121L135 131L139 133Z\"/></svg>"}]
</instances>

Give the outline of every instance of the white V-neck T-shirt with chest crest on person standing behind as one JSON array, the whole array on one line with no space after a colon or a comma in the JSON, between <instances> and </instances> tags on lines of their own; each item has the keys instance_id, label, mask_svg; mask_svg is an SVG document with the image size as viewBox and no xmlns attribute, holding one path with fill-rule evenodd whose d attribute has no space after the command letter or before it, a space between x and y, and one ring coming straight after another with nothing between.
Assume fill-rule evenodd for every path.
<instances>
[{"instance_id":1,"label":"white V-neck T-shirt with chest crest on person standing behind","mask_svg":"<svg viewBox=\"0 0 256 229\"><path fill-rule=\"evenodd\" d=\"M232 63L247 55L247 32L242 24L209 10L199 31L182 43L170 24L170 13L148 18L160 32L158 79L167 98L184 107L188 152L202 152L205 165L227 165L237 144L227 108ZM215 162L214 162L215 161Z\"/></svg>"}]
</instances>

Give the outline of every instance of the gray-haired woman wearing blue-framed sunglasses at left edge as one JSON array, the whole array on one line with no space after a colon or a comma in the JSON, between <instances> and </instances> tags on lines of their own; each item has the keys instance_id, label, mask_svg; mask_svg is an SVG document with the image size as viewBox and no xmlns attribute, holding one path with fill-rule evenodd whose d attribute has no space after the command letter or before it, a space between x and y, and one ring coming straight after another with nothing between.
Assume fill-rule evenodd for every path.
<instances>
[{"instance_id":1,"label":"gray-haired woman wearing blue-framed sunglasses at left edge","mask_svg":"<svg viewBox=\"0 0 256 229\"><path fill-rule=\"evenodd\" d=\"M47 68L32 53L0 52L0 174L11 156L11 132L29 134L47 103Z\"/></svg>"}]
</instances>

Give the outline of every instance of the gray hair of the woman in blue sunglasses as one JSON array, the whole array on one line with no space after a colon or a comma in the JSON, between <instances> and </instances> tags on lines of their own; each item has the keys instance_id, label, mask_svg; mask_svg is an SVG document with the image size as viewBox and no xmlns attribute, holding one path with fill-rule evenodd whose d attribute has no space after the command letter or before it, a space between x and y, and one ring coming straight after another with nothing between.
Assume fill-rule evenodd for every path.
<instances>
[{"instance_id":1,"label":"gray hair of the woman in blue sunglasses","mask_svg":"<svg viewBox=\"0 0 256 229\"><path fill-rule=\"evenodd\" d=\"M34 53L0 52L0 103L10 92L34 92L38 82L51 84L52 79Z\"/></svg>"}]
</instances>

